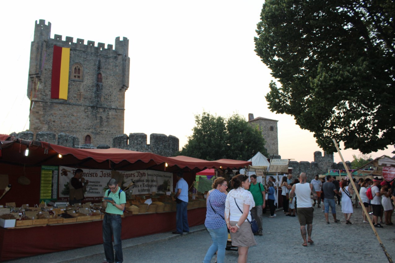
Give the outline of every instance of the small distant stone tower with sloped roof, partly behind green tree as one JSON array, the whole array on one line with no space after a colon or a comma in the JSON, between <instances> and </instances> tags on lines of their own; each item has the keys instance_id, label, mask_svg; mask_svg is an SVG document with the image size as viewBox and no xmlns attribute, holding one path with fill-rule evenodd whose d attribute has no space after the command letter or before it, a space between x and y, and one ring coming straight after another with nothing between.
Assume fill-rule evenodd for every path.
<instances>
[{"instance_id":1,"label":"small distant stone tower with sloped roof, partly behind green tree","mask_svg":"<svg viewBox=\"0 0 395 263\"><path fill-rule=\"evenodd\" d=\"M268 157L278 155L278 129L277 122L274 119L267 119L262 117L254 118L254 114L248 114L248 123L252 126L258 126L263 138L266 140L265 148L267 149Z\"/></svg>"}]
</instances>

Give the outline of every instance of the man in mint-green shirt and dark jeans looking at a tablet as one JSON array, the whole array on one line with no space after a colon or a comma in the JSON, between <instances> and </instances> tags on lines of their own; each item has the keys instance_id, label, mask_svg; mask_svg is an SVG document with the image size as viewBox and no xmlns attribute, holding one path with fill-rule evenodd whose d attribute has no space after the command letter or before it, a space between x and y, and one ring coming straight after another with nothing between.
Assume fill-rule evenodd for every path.
<instances>
[{"instance_id":1,"label":"man in mint-green shirt and dark jeans looking at a tablet","mask_svg":"<svg viewBox=\"0 0 395 263\"><path fill-rule=\"evenodd\" d=\"M102 229L104 254L106 258L106 261L104 261L103 263L121 263L123 262L121 242L121 216L126 205L126 195L125 192L123 192L118 186L118 182L114 178L108 181L107 186L109 190L105 192L103 198L105 215ZM112 237L114 237L114 246Z\"/></svg>"}]
</instances>

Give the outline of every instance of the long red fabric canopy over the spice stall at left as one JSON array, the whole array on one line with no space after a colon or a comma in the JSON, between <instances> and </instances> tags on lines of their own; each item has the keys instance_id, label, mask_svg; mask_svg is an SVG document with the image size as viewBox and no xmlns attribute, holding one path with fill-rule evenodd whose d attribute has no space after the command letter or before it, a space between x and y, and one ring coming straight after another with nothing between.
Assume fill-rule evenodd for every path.
<instances>
[{"instance_id":1,"label":"long red fabric canopy over the spice stall at left","mask_svg":"<svg viewBox=\"0 0 395 263\"><path fill-rule=\"evenodd\" d=\"M29 150L25 156L26 149ZM62 155L59 157L58 155ZM251 162L221 159L206 161L186 156L164 157L125 149L75 149L47 142L28 141L0 134L0 183L12 185L3 202L32 203L40 200L40 175L43 166L68 166L82 169L118 171L154 170L170 173L184 172L184 179L192 185L196 172L206 168L239 169ZM24 176L30 185L21 185ZM173 185L175 185L173 176ZM4 188L2 188L4 189ZM21 192L29 192L21 195Z\"/></svg>"}]
</instances>

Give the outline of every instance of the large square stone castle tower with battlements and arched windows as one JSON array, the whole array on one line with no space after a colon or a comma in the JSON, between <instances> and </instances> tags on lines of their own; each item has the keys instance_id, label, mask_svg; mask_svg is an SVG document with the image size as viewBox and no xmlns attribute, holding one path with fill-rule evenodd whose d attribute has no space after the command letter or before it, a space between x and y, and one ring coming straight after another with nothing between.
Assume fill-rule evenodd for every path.
<instances>
[{"instance_id":1,"label":"large square stone castle tower with battlements and arched windows","mask_svg":"<svg viewBox=\"0 0 395 263\"><path fill-rule=\"evenodd\" d=\"M37 132L73 134L79 144L112 145L124 133L125 91L129 87L129 40L113 45L51 35L51 23L36 21L30 49L27 96L31 98L30 127ZM68 94L51 99L54 46L70 48Z\"/></svg>"}]
</instances>

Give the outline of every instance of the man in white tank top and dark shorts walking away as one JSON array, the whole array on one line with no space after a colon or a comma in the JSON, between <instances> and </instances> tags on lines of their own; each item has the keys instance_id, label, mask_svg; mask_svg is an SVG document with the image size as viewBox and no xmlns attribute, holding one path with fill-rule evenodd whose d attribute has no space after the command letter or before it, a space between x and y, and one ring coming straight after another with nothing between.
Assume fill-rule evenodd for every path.
<instances>
[{"instance_id":1,"label":"man in white tank top and dark shorts walking away","mask_svg":"<svg viewBox=\"0 0 395 263\"><path fill-rule=\"evenodd\" d=\"M312 184L306 182L306 173L299 175L300 183L292 186L290 198L296 195L297 198L297 217L300 223L300 233L303 238L302 246L307 246L307 243L314 243L311 239L311 231L313 229L313 207L311 205L310 195L312 194L314 200L317 199L317 194ZM307 238L306 238L307 225Z\"/></svg>"}]
</instances>

